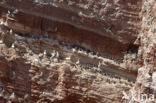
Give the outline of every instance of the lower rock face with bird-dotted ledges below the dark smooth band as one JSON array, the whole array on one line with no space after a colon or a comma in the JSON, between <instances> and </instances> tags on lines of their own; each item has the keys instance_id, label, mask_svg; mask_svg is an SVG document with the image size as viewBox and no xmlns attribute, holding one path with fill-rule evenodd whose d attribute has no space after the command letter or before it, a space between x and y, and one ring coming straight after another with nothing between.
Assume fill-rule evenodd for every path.
<instances>
[{"instance_id":1,"label":"lower rock face with bird-dotted ledges below the dark smooth band","mask_svg":"<svg viewBox=\"0 0 156 103\"><path fill-rule=\"evenodd\" d=\"M120 103L134 85L136 75L114 60L1 29L2 103Z\"/></svg>"}]
</instances>

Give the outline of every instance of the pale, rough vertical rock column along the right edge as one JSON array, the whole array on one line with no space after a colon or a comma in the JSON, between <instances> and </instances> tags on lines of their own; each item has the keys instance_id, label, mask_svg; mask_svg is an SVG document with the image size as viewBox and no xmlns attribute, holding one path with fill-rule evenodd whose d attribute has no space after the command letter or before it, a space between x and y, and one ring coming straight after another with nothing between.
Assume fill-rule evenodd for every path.
<instances>
[{"instance_id":1,"label":"pale, rough vertical rock column along the right edge","mask_svg":"<svg viewBox=\"0 0 156 103\"><path fill-rule=\"evenodd\" d=\"M131 91L148 94L147 101L156 96L156 1L145 0L142 6L141 32L136 40L138 51L138 77ZM145 99L144 99L145 100ZM132 101L134 101L132 99Z\"/></svg>"}]
</instances>

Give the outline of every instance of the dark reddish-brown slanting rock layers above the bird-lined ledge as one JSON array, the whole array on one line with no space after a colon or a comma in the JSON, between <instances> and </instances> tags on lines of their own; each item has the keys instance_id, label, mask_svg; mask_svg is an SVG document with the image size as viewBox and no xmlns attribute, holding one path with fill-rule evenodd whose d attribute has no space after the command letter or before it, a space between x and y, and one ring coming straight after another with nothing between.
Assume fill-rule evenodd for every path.
<instances>
[{"instance_id":1,"label":"dark reddish-brown slanting rock layers above the bird-lined ledge","mask_svg":"<svg viewBox=\"0 0 156 103\"><path fill-rule=\"evenodd\" d=\"M118 59L123 58L123 52L137 51L133 43L140 27L141 1L9 0L0 5L6 13L10 10L12 15L3 12L3 17L17 32L46 33Z\"/></svg>"}]
</instances>

